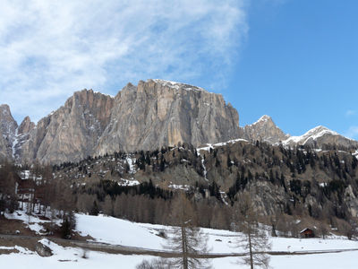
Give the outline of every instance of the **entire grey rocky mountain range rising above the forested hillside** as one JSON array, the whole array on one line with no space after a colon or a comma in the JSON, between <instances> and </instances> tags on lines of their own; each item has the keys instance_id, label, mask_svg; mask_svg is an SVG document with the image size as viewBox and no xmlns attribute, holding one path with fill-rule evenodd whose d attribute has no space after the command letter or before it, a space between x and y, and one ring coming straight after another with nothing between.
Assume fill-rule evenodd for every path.
<instances>
[{"instance_id":1,"label":"entire grey rocky mountain range rising above the forested hillside","mask_svg":"<svg viewBox=\"0 0 358 269\"><path fill-rule=\"evenodd\" d=\"M128 83L115 97L77 91L63 107L35 126L20 126L7 105L0 107L0 158L61 163L112 152L154 151L190 143L199 147L243 138L287 147L358 148L358 142L319 126L303 136L282 132L268 116L239 126L239 116L220 94L163 80Z\"/></svg>"}]
</instances>

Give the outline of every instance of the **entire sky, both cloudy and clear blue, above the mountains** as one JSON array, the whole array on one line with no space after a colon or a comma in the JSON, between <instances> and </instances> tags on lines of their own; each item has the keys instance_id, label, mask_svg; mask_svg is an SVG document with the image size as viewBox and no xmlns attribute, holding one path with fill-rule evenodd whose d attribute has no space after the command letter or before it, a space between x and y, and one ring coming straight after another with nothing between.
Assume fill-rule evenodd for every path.
<instances>
[{"instance_id":1,"label":"entire sky, both cloudy and clear blue, above the mountains","mask_svg":"<svg viewBox=\"0 0 358 269\"><path fill-rule=\"evenodd\" d=\"M194 3L192 3L194 2ZM219 4L218 4L219 3ZM358 139L354 0L0 2L0 103L37 121L83 88L149 78L224 95L240 125Z\"/></svg>"}]
</instances>

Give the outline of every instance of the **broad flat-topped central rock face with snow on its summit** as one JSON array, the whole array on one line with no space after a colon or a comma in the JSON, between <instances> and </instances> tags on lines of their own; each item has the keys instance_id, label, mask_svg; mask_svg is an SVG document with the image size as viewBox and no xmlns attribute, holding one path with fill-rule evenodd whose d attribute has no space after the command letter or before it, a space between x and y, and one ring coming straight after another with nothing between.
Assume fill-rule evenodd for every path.
<instances>
[{"instance_id":1,"label":"broad flat-topped central rock face with snow on its summit","mask_svg":"<svg viewBox=\"0 0 358 269\"><path fill-rule=\"evenodd\" d=\"M236 138L237 111L219 94L191 85L148 80L115 97L97 154L154 150L164 145L217 143Z\"/></svg>"}]
</instances>

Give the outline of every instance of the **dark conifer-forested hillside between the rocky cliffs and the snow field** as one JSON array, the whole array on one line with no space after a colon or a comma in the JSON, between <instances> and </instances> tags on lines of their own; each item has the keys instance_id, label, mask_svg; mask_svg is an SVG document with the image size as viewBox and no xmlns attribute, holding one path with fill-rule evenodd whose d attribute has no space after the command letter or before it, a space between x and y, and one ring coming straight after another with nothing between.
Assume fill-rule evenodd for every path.
<instances>
[{"instance_id":1,"label":"dark conifer-forested hillside between the rocky cliffs and the snow field","mask_svg":"<svg viewBox=\"0 0 358 269\"><path fill-rule=\"evenodd\" d=\"M167 215L183 189L204 227L229 229L238 195L248 192L263 221L275 226L277 215L286 216L281 230L293 229L289 221L298 219L349 230L358 209L354 153L244 140L200 149L184 143L63 163L53 168L52 180L71 189L77 210L133 221L171 223Z\"/></svg>"}]
</instances>

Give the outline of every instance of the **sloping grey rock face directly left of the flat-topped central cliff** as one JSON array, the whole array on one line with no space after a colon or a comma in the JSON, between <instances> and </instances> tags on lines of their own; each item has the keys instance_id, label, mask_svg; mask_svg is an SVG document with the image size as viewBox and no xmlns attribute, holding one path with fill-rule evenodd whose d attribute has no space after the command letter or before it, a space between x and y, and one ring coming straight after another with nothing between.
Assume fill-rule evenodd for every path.
<instances>
[{"instance_id":1,"label":"sloping grey rock face directly left of the flat-topped central cliff","mask_svg":"<svg viewBox=\"0 0 358 269\"><path fill-rule=\"evenodd\" d=\"M63 107L38 121L21 147L21 159L59 163L92 155L113 104L112 97L92 90L75 92Z\"/></svg>"}]
</instances>

